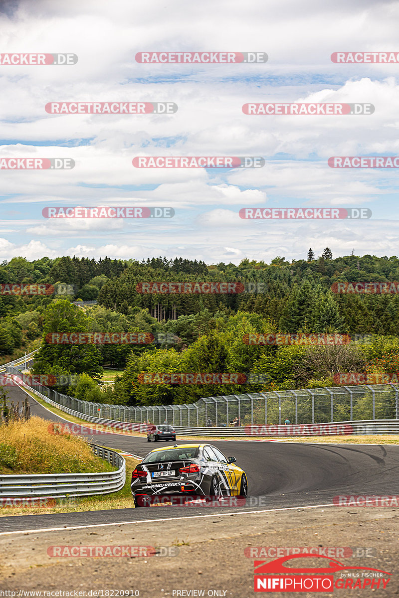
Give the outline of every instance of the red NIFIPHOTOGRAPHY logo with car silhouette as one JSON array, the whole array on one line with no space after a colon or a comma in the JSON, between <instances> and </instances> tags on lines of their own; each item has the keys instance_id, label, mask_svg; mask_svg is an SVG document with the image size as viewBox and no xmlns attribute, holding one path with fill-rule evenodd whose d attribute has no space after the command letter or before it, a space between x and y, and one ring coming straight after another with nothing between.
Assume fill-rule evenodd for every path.
<instances>
[{"instance_id":1,"label":"red NIFIPHOTOGRAPHY logo with car silhouette","mask_svg":"<svg viewBox=\"0 0 399 598\"><path fill-rule=\"evenodd\" d=\"M298 564L296 559L322 560L319 567L304 568L294 566ZM293 566L286 566L288 561L293 561ZM340 573L336 580L334 573ZM316 554L301 553L270 562L254 561L255 592L333 592L334 587L339 590L385 590L389 581L391 573L382 569L350 567Z\"/></svg>"}]
</instances>

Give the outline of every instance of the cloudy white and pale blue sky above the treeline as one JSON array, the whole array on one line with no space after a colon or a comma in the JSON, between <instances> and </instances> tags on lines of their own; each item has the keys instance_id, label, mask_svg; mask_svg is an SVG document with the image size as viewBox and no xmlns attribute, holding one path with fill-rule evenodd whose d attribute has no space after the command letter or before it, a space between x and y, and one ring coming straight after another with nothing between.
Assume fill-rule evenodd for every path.
<instances>
[{"instance_id":1,"label":"cloudy white and pale blue sky above the treeline","mask_svg":"<svg viewBox=\"0 0 399 598\"><path fill-rule=\"evenodd\" d=\"M0 65L0 262L23 256L240 263L398 255L398 169L333 169L333 156L399 155L399 2L0 1L2 53L74 65ZM139 63L143 51L266 52L266 63ZM174 102L173 114L48 114L48 102ZM247 115L257 103L371 103L365 115ZM139 169L138 156L258 156L261 168ZM169 207L163 219L47 219L48 206ZM368 208L369 219L245 220L242 208Z\"/></svg>"}]
</instances>

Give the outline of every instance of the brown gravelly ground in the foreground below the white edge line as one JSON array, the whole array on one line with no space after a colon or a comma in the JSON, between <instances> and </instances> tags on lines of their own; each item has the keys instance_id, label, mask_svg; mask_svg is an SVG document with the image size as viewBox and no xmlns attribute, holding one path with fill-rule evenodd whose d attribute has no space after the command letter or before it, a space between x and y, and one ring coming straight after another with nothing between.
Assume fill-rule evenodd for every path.
<instances>
[{"instance_id":1,"label":"brown gravelly ground in the foreground below the white edge line","mask_svg":"<svg viewBox=\"0 0 399 598\"><path fill-rule=\"evenodd\" d=\"M0 533L0 588L17 591L16 596L19 596L20 590L61 590L72 591L71 596L112 598L121 595L117 594L118 590L132 590L130 595L133 596L138 590L142 598L201 595L251 598L258 595L254 594L254 557L253 553L252 558L246 557L244 550L263 546L319 547L322 554L344 565L371 567L391 573L385 590L382 584L379 588L375 587L375 578L372 590L369 587L365 590L334 588L333 593L321 593L320 596L373 595L391 598L399 594L398 508L294 508L226 516L218 515L216 508L204 508L202 516L193 518L190 518L189 508L184 516L187 518L173 518L173 507L159 508L165 509L163 521L151 521L148 517L146 521L106 527ZM98 558L47 555L50 546L61 545L160 546L165 547L160 549L161 554L165 551L178 554ZM332 550L330 554L328 547ZM373 550L368 553L374 556L342 557L342 552L335 549L343 547L371 548ZM359 554L363 554L361 550ZM272 556L275 558L274 554ZM273 559L263 556L262 560ZM320 566L316 560L307 559L307 565ZM303 566L302 563L301 560L296 566ZM325 566L326 561L323 563ZM334 579L344 575L347 576L348 572L335 573ZM344 582L346 579L342 584ZM352 585L355 580L348 579L348 582ZM74 594L75 590L86 594ZM103 594L95 594L99 590ZM47 594L50 595L56 596L54 593ZM267 595L306 597L318 594L269 591Z\"/></svg>"}]
</instances>

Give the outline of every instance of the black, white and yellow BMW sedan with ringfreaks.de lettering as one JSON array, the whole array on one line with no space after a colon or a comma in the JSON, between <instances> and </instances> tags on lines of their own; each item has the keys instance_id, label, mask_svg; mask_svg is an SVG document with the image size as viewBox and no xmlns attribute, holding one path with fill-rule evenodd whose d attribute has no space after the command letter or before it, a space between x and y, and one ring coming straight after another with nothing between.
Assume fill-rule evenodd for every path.
<instances>
[{"instance_id":1,"label":"black, white and yellow BMW sedan with ringfreaks.de lettering","mask_svg":"<svg viewBox=\"0 0 399 598\"><path fill-rule=\"evenodd\" d=\"M154 449L132 472L135 507L144 506L145 501L138 501L143 496L246 496L248 480L235 462L211 444Z\"/></svg>"}]
</instances>

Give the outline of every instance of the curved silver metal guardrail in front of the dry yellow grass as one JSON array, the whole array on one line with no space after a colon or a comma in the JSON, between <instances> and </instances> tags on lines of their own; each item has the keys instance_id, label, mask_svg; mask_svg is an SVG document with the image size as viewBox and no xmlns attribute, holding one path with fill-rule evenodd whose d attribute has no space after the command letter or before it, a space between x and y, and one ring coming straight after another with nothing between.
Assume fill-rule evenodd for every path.
<instances>
[{"instance_id":1,"label":"curved silver metal guardrail in front of the dry yellow grass","mask_svg":"<svg viewBox=\"0 0 399 598\"><path fill-rule=\"evenodd\" d=\"M92 474L0 474L0 498L65 498L118 492L126 480L126 461L111 449L96 444L92 444L92 449L118 470Z\"/></svg>"}]
</instances>

